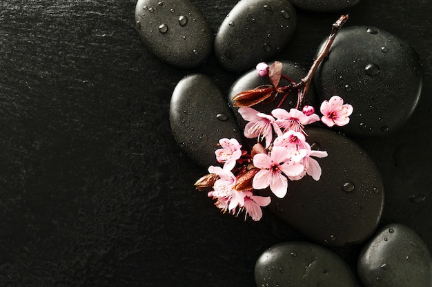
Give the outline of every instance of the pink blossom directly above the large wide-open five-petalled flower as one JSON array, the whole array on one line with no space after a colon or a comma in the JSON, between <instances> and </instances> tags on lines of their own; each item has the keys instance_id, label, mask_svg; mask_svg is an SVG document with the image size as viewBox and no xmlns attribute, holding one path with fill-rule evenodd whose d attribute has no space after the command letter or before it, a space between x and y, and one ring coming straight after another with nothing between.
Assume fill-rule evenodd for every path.
<instances>
[{"instance_id":1,"label":"pink blossom directly above the large wide-open five-petalled flower","mask_svg":"<svg viewBox=\"0 0 432 287\"><path fill-rule=\"evenodd\" d=\"M289 130L282 136L278 136L273 143L275 147L285 147L286 157L293 160L293 162L300 162L306 156L306 149L308 143L304 134Z\"/></svg>"}]
</instances>

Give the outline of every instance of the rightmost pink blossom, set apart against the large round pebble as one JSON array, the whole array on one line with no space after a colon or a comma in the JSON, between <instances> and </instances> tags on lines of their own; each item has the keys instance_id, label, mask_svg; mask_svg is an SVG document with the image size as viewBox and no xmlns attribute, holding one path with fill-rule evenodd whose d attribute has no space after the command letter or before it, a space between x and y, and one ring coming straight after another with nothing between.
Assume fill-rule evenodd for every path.
<instances>
[{"instance_id":1,"label":"rightmost pink blossom, set apart against the large round pebble","mask_svg":"<svg viewBox=\"0 0 432 287\"><path fill-rule=\"evenodd\" d=\"M330 100L324 100L321 107L322 123L328 127L333 125L346 125L349 123L349 116L353 114L353 106L344 104L344 100L340 96L332 96Z\"/></svg>"}]
</instances>

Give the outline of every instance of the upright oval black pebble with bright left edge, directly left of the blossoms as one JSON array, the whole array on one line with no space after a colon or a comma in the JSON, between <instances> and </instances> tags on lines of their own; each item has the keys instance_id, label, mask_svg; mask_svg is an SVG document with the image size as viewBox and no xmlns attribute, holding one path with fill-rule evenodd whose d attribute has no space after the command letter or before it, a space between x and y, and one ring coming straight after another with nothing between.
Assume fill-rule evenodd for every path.
<instances>
[{"instance_id":1,"label":"upright oval black pebble with bright left edge, directly left of the blossoms","mask_svg":"<svg viewBox=\"0 0 432 287\"><path fill-rule=\"evenodd\" d=\"M170 102L170 124L180 147L206 168L218 164L215 150L219 139L242 142L226 97L204 74L191 74L179 81Z\"/></svg>"}]
</instances>

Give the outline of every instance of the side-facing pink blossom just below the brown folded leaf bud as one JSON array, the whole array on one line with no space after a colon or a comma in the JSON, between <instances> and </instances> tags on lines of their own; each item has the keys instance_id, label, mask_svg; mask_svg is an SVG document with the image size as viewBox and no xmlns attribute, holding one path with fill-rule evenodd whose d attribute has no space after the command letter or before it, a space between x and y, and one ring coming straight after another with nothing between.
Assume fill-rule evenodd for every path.
<instances>
[{"instance_id":1,"label":"side-facing pink blossom just below the brown folded leaf bud","mask_svg":"<svg viewBox=\"0 0 432 287\"><path fill-rule=\"evenodd\" d=\"M244 127L244 136L246 138L258 138L258 141L265 138L266 148L270 146L273 139L273 129L275 129L276 134L282 135L282 131L275 123L273 116L260 113L251 107L240 107L239 114L249 122Z\"/></svg>"}]
</instances>

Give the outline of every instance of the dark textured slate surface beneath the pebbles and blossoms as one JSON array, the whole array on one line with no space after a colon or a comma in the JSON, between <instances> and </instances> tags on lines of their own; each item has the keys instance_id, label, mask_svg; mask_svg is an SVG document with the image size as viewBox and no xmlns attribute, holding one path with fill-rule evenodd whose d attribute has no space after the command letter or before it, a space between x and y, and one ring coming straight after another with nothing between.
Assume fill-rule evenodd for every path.
<instances>
[{"instance_id":1,"label":"dark textured slate surface beneath the pebbles and blossoms","mask_svg":"<svg viewBox=\"0 0 432 287\"><path fill-rule=\"evenodd\" d=\"M237 75L214 56L195 70L155 59L135 30L135 3L0 3L0 286L254 286L262 251L302 239L268 212L261 222L222 215L194 190L206 169L173 139L170 94L191 72L223 92ZM235 1L193 3L216 32ZM362 0L346 24L395 34L424 64L409 123L359 143L384 179L382 223L408 225L429 248L431 13L429 0ZM298 12L279 59L311 65L339 16Z\"/></svg>"}]
</instances>

